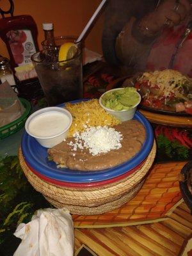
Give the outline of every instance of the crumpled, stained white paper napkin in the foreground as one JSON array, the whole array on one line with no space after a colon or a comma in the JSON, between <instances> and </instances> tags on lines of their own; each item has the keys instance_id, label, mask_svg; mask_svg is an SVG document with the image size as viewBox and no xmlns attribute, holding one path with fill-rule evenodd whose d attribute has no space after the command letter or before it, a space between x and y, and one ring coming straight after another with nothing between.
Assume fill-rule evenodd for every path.
<instances>
[{"instance_id":1,"label":"crumpled, stained white paper napkin in the foreground","mask_svg":"<svg viewBox=\"0 0 192 256\"><path fill-rule=\"evenodd\" d=\"M14 235L22 241L13 256L74 255L74 224L67 209L38 210Z\"/></svg>"}]
</instances>

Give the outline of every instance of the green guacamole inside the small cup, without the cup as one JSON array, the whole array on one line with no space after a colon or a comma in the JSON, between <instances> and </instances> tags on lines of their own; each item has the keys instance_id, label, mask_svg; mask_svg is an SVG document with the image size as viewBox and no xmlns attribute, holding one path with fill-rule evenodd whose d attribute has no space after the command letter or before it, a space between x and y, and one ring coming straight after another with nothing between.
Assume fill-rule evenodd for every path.
<instances>
[{"instance_id":1,"label":"green guacamole inside the small cup, without the cup","mask_svg":"<svg viewBox=\"0 0 192 256\"><path fill-rule=\"evenodd\" d=\"M136 88L125 87L107 92L103 95L101 102L106 108L120 111L131 109L139 100L140 97L136 92Z\"/></svg>"}]
</instances>

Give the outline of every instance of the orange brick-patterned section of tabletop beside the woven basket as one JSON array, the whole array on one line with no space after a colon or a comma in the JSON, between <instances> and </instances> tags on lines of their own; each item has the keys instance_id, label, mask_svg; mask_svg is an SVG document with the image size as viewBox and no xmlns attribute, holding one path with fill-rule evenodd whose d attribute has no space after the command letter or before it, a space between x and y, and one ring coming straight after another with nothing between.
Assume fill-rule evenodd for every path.
<instances>
[{"instance_id":1,"label":"orange brick-patterned section of tabletop beside the woven basket","mask_svg":"<svg viewBox=\"0 0 192 256\"><path fill-rule=\"evenodd\" d=\"M184 164L186 162L154 164L131 201L104 214L73 215L75 227L118 227L165 220L180 204L179 173Z\"/></svg>"}]
</instances>

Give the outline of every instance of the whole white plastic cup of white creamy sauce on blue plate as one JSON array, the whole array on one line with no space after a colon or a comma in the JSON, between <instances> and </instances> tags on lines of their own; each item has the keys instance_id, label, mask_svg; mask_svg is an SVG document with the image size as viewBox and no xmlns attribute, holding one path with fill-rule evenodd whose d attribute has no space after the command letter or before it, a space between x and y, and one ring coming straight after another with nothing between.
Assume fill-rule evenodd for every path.
<instances>
[{"instance_id":1,"label":"whole white plastic cup of white creamy sauce on blue plate","mask_svg":"<svg viewBox=\"0 0 192 256\"><path fill-rule=\"evenodd\" d=\"M67 138L71 124L72 115L67 109L48 107L31 114L25 129L40 145L51 148Z\"/></svg>"}]
</instances>

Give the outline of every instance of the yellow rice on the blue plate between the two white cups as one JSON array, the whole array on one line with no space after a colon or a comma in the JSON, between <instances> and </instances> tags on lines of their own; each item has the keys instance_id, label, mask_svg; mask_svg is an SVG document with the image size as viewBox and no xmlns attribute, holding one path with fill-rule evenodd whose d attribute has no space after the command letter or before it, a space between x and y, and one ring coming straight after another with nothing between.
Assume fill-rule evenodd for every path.
<instances>
[{"instance_id":1,"label":"yellow rice on the blue plate between the two white cups","mask_svg":"<svg viewBox=\"0 0 192 256\"><path fill-rule=\"evenodd\" d=\"M67 103L65 108L70 111L73 122L69 130L69 137L72 137L74 132L81 132L88 126L104 126L110 127L120 124L120 121L115 117L109 115L99 105L99 100L92 99L82 101L76 104Z\"/></svg>"}]
</instances>

